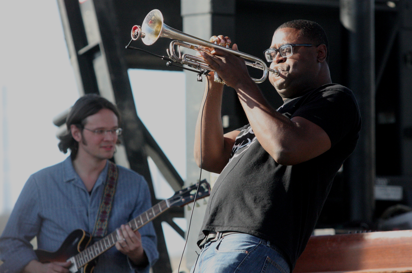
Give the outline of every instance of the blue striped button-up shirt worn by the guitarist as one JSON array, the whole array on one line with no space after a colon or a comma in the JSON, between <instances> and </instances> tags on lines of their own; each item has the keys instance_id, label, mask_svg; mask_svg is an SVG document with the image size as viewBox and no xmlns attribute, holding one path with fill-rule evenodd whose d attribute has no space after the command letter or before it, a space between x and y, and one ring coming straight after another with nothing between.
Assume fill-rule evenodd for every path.
<instances>
[{"instance_id":1,"label":"blue striped button-up shirt worn by the guitarist","mask_svg":"<svg viewBox=\"0 0 412 273\"><path fill-rule=\"evenodd\" d=\"M75 172L72 161L65 161L30 176L0 237L0 272L19 272L37 259L30 240L37 236L39 249L55 252L75 229L93 232L108 172L108 162L91 193ZM151 207L150 192L143 176L119 166L112 211L108 221L110 234ZM115 247L98 258L94 273L149 272L159 253L152 222L139 229L150 265L133 268L126 255Z\"/></svg>"}]
</instances>

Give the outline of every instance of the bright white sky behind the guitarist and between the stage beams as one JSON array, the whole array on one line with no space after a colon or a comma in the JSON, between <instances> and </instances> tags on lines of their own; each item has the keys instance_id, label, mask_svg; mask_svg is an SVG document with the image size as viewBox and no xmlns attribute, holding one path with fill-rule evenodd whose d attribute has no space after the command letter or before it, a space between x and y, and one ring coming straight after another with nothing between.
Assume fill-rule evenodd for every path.
<instances>
[{"instance_id":1,"label":"bright white sky behind the guitarist and between the stage beams","mask_svg":"<svg viewBox=\"0 0 412 273\"><path fill-rule=\"evenodd\" d=\"M67 157L57 148L57 127L52 120L79 95L56 0L0 1L0 25L1 214L12 209L30 174ZM153 72L133 69L129 75L133 86L139 77L147 80ZM175 81L176 77L181 79L183 85L172 90L170 84L166 85L168 80L150 80L152 86L140 85L133 94L138 94L138 115L185 179L184 74L163 72L157 79L168 75ZM7 131L3 131L4 126ZM173 194L161 180L155 187L164 189L158 198ZM171 237L176 240L168 241ZM168 245L176 252L173 254L181 252L176 249L182 244L179 237L166 235Z\"/></svg>"}]
</instances>

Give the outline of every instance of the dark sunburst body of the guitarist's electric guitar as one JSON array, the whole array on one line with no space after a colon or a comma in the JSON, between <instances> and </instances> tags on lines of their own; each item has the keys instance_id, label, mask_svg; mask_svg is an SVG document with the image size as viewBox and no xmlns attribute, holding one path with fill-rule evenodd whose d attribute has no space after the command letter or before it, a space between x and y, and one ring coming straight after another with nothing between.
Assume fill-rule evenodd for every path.
<instances>
[{"instance_id":1,"label":"dark sunburst body of the guitarist's electric guitar","mask_svg":"<svg viewBox=\"0 0 412 273\"><path fill-rule=\"evenodd\" d=\"M46 250L35 250L37 258L43 264L51 263L54 261L65 262L70 257L82 252L91 241L91 235L84 231L83 229L76 229L72 231L64 242L61 244L60 248L56 252L49 252ZM96 259L84 265L78 272L80 273L92 273L93 268L96 264Z\"/></svg>"}]
</instances>

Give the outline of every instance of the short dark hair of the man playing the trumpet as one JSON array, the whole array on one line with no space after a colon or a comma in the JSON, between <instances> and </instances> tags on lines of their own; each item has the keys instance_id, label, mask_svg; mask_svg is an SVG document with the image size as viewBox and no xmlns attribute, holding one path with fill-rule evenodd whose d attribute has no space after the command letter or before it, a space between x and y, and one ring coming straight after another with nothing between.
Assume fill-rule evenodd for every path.
<instances>
[{"instance_id":1,"label":"short dark hair of the man playing the trumpet","mask_svg":"<svg viewBox=\"0 0 412 273\"><path fill-rule=\"evenodd\" d=\"M308 20L293 20L283 23L277 28L295 28L300 30L300 35L307 37L309 41L313 44L325 44L326 46L326 60L329 59L329 44L328 37L326 36L325 30L318 23L308 21Z\"/></svg>"}]
</instances>

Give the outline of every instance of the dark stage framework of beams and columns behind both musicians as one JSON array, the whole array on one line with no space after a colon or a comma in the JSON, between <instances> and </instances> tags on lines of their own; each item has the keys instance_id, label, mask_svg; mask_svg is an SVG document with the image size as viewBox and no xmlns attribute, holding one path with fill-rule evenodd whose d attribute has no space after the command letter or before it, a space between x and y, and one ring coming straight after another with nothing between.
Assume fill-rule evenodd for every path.
<instances>
[{"instance_id":1,"label":"dark stage framework of beams and columns behind both musicians","mask_svg":"<svg viewBox=\"0 0 412 273\"><path fill-rule=\"evenodd\" d=\"M329 39L332 81L353 90L361 109L362 129L358 147L335 178L318 227L375 229L387 208L397 204L412 207L412 0L57 1L80 95L98 93L119 107L123 148L115 161L145 176L152 203L159 200L147 156L174 190L199 179L193 143L204 88L196 73L185 72L187 180L183 182L138 118L127 73L129 68L181 70L167 67L165 60L147 53L125 49L132 26L141 25L146 14L159 9L171 28L205 40L212 35L229 36L241 52L261 59L281 23L307 19L321 24ZM159 38L152 46L141 41L131 46L166 55L170 42ZM254 78L260 78L260 73L250 70ZM282 104L269 81L259 86L274 107ZM222 105L224 132L247 123L234 90L227 86ZM56 125L62 125L63 119L64 115L56 118ZM213 184L215 177L205 171L202 179ZM205 209L199 203L185 252L188 268L197 257L195 242ZM154 221L161 253L154 273L171 272L161 222L184 236L172 218L184 217L186 212L170 210Z\"/></svg>"}]
</instances>

